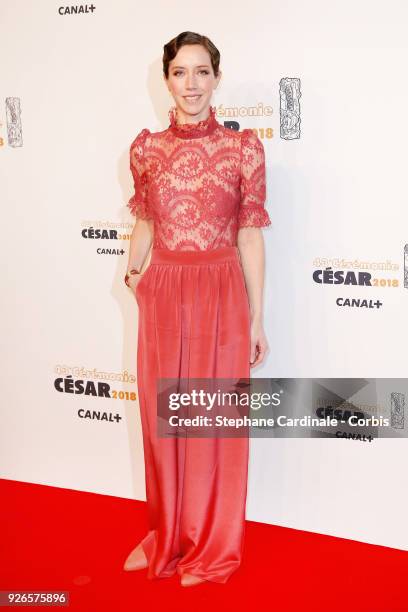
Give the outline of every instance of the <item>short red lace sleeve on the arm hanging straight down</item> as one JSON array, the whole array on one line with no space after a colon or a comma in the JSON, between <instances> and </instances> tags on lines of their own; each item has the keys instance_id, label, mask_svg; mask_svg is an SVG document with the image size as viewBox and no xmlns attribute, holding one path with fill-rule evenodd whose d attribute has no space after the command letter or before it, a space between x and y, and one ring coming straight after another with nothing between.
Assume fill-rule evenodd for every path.
<instances>
[{"instance_id":1,"label":"short red lace sleeve on the arm hanging straight down","mask_svg":"<svg viewBox=\"0 0 408 612\"><path fill-rule=\"evenodd\" d=\"M262 141L250 128L241 134L241 203L238 229L271 225L265 209L265 151Z\"/></svg>"}]
</instances>

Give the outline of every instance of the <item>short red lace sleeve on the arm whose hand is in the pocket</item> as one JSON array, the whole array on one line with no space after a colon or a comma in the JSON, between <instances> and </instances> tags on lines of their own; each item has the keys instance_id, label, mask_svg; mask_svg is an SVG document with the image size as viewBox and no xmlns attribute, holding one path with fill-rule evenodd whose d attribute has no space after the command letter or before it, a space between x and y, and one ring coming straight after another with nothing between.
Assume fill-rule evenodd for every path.
<instances>
[{"instance_id":1,"label":"short red lace sleeve on the arm whose hand is in the pocket","mask_svg":"<svg viewBox=\"0 0 408 612\"><path fill-rule=\"evenodd\" d=\"M152 219L148 204L148 176L144 157L146 138L150 134L144 128L130 145L130 170L133 176L135 193L129 200L128 207L137 219Z\"/></svg>"}]
</instances>

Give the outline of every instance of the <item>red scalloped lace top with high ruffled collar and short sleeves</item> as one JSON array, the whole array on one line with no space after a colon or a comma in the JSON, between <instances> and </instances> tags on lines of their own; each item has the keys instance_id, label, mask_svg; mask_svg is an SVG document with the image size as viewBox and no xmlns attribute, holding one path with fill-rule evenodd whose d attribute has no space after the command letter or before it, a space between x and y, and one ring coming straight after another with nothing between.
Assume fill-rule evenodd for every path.
<instances>
[{"instance_id":1,"label":"red scalloped lace top with high ruffled collar and short sleeves","mask_svg":"<svg viewBox=\"0 0 408 612\"><path fill-rule=\"evenodd\" d=\"M236 246L239 228L271 224L265 209L265 153L249 128L218 123L215 107L199 123L177 122L176 107L162 132L144 128L130 145L137 219L152 219L153 247L209 250Z\"/></svg>"}]
</instances>

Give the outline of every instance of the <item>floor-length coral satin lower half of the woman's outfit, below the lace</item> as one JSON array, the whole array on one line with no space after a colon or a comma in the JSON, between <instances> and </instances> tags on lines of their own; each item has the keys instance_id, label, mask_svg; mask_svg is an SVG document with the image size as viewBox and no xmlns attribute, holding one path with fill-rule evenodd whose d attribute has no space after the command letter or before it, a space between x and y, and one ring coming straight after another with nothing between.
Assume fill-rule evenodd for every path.
<instances>
[{"instance_id":1,"label":"floor-length coral satin lower half of the woman's outfit, below the lace","mask_svg":"<svg viewBox=\"0 0 408 612\"><path fill-rule=\"evenodd\" d=\"M250 312L237 247L153 249L136 288L148 578L225 583L241 563L249 440L161 438L158 378L249 378Z\"/></svg>"}]
</instances>

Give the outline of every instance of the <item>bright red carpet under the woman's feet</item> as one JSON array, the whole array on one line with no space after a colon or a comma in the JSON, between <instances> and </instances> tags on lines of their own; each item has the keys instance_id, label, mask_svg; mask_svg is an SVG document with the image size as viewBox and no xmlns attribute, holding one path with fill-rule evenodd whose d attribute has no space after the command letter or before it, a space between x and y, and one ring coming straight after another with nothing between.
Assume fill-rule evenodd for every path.
<instances>
[{"instance_id":1,"label":"bright red carpet under the woman's feet","mask_svg":"<svg viewBox=\"0 0 408 612\"><path fill-rule=\"evenodd\" d=\"M143 502L7 480L0 487L1 591L69 591L66 609L83 612L408 611L405 551L248 521L244 562L227 584L181 587L178 576L122 570L145 534Z\"/></svg>"}]
</instances>

